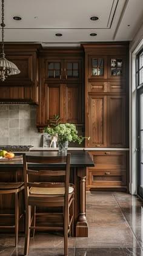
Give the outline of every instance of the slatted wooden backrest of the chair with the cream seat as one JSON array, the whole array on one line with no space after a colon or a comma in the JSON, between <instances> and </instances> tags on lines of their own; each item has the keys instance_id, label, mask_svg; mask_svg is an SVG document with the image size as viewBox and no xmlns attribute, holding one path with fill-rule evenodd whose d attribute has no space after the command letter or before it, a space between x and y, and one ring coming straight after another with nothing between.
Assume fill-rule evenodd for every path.
<instances>
[{"instance_id":1,"label":"slatted wooden backrest of the chair with the cream seat","mask_svg":"<svg viewBox=\"0 0 143 256\"><path fill-rule=\"evenodd\" d=\"M55 189L64 187L65 201L68 201L70 154L67 154L67 156L30 156L23 154L23 161L25 193L27 193L27 196L30 195L29 189L31 187ZM28 163L31 165L28 165Z\"/></svg>"}]
</instances>

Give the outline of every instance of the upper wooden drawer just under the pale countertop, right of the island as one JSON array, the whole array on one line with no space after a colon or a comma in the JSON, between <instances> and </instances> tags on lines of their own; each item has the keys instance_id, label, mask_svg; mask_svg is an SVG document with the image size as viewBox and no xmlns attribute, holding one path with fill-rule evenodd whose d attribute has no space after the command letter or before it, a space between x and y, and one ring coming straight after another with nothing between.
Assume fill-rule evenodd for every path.
<instances>
[{"instance_id":1,"label":"upper wooden drawer just under the pale countertop, right of the island","mask_svg":"<svg viewBox=\"0 0 143 256\"><path fill-rule=\"evenodd\" d=\"M97 168L126 169L127 167L126 151L89 151L89 154Z\"/></svg>"}]
</instances>

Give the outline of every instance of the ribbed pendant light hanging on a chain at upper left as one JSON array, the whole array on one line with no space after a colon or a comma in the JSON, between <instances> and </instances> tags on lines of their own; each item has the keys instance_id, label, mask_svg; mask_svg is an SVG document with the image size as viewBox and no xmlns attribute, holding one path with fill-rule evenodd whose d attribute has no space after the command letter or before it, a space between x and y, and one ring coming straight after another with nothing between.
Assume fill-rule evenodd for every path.
<instances>
[{"instance_id":1,"label":"ribbed pendant light hanging on a chain at upper left","mask_svg":"<svg viewBox=\"0 0 143 256\"><path fill-rule=\"evenodd\" d=\"M8 61L5 58L4 54L4 0L2 0L2 53L0 54L0 80L4 81L5 78L8 75L16 75L19 74L21 71L19 71L18 67L12 63L11 61Z\"/></svg>"}]
</instances>

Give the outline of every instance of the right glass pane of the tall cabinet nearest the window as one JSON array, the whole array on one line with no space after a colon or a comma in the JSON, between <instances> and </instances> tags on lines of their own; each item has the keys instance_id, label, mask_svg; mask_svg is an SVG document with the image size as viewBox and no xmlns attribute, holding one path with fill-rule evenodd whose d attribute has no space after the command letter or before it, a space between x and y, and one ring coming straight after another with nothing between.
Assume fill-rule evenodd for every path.
<instances>
[{"instance_id":1,"label":"right glass pane of the tall cabinet nearest the window","mask_svg":"<svg viewBox=\"0 0 143 256\"><path fill-rule=\"evenodd\" d=\"M122 59L121 58L111 58L111 77L122 75Z\"/></svg>"}]
</instances>

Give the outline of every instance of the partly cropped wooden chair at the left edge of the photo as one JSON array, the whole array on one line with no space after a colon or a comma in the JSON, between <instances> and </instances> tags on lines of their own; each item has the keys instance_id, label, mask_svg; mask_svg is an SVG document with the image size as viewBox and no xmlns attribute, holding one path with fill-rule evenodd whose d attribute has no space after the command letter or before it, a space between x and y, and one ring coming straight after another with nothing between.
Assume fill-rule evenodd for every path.
<instances>
[{"instance_id":1,"label":"partly cropped wooden chair at the left edge of the photo","mask_svg":"<svg viewBox=\"0 0 143 256\"><path fill-rule=\"evenodd\" d=\"M17 180L17 174L16 175L16 180ZM0 226L0 229L2 228L15 228L15 246L18 246L18 231L19 231L19 219L21 218L22 214L19 215L19 192L21 190L24 190L24 182L0 182L0 195L2 194L15 194L15 213L4 213L2 210L2 213L0 214L1 216L15 216L15 224L14 225L2 225Z\"/></svg>"}]
</instances>

